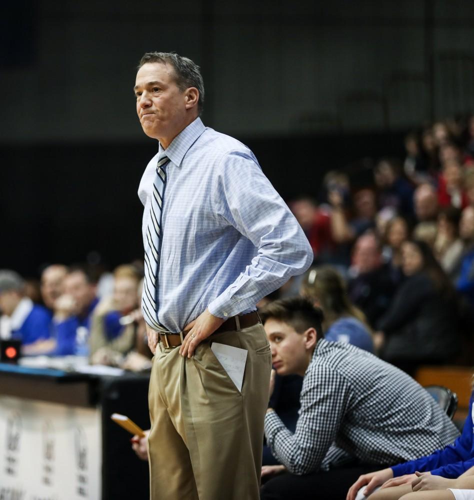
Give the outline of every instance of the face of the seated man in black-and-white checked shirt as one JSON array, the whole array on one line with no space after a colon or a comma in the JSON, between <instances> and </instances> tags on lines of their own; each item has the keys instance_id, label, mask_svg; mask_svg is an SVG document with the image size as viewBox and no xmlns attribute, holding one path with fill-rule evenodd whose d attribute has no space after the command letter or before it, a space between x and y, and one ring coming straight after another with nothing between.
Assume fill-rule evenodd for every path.
<instances>
[{"instance_id":1,"label":"face of the seated man in black-and-white checked shirt","mask_svg":"<svg viewBox=\"0 0 474 500\"><path fill-rule=\"evenodd\" d=\"M267 319L263 325L271 349L271 362L278 375L305 371L308 364L306 336L292 326L276 319Z\"/></svg>"}]
</instances>

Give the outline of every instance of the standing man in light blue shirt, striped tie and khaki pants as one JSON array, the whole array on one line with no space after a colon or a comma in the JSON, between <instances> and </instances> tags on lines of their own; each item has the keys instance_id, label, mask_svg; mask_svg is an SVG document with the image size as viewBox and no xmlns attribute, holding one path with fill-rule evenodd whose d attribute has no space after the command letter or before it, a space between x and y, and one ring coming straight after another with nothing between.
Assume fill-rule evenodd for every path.
<instances>
[{"instance_id":1,"label":"standing man in light blue shirt, striped tie and khaki pants","mask_svg":"<svg viewBox=\"0 0 474 500\"><path fill-rule=\"evenodd\" d=\"M159 141L138 189L142 311L155 353L150 495L255 499L271 365L255 303L303 272L311 248L253 153L202 124L194 62L146 53L134 91L143 131ZM241 387L214 349L246 351Z\"/></svg>"}]
</instances>

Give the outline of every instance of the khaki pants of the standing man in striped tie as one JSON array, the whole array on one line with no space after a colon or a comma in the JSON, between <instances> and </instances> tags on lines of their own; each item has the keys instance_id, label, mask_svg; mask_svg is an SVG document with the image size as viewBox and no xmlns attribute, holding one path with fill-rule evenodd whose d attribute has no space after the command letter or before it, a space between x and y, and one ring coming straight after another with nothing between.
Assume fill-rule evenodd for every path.
<instances>
[{"instance_id":1,"label":"khaki pants of the standing man in striped tie","mask_svg":"<svg viewBox=\"0 0 474 500\"><path fill-rule=\"evenodd\" d=\"M239 392L211 342L247 349ZM158 343L148 393L151 500L257 500L271 354L263 326L217 333L190 359Z\"/></svg>"}]
</instances>

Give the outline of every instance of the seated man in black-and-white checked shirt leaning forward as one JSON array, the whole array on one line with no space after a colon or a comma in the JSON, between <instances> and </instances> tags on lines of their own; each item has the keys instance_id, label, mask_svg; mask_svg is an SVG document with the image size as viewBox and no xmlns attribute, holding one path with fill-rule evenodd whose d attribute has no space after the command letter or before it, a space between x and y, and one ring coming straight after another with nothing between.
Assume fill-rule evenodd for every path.
<instances>
[{"instance_id":1,"label":"seated man in black-and-white checked shirt leaning forward","mask_svg":"<svg viewBox=\"0 0 474 500\"><path fill-rule=\"evenodd\" d=\"M438 404L406 373L355 346L324 340L322 312L306 299L270 303L262 320L276 372L304 379L294 433L267 409L267 443L288 472L265 483L260 498L298 500L314 492L318 500L345 498L361 473L457 437Z\"/></svg>"}]
</instances>

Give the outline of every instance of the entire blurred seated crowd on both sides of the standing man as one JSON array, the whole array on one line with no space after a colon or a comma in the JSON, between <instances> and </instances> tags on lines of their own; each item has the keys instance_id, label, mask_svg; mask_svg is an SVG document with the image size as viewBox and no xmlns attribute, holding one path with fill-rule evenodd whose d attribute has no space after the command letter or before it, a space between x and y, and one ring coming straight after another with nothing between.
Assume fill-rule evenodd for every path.
<instances>
[{"instance_id":1,"label":"entire blurred seated crowd on both sides of the standing man","mask_svg":"<svg viewBox=\"0 0 474 500\"><path fill-rule=\"evenodd\" d=\"M474 117L412 131L404 147L404 158L378 160L367 185L331 170L322 189L289 202L314 265L258 305L302 294L322 308L326 338L412 373L472 355ZM51 264L37 285L0 270L0 337L21 339L25 355L146 368L142 276L140 262L100 276Z\"/></svg>"}]
</instances>

